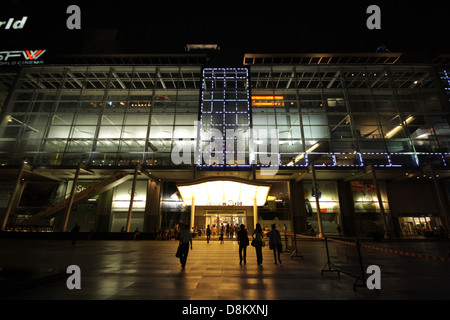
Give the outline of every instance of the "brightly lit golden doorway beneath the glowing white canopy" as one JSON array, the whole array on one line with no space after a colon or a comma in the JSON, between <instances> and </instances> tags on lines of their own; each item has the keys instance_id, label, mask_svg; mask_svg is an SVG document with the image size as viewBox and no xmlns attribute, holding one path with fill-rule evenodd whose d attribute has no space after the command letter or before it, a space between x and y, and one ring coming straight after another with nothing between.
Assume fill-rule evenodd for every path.
<instances>
[{"instance_id":1,"label":"brightly lit golden doorway beneath the glowing white canopy","mask_svg":"<svg viewBox=\"0 0 450 320\"><path fill-rule=\"evenodd\" d=\"M224 238L235 239L236 228L247 226L246 211L243 210L206 210L205 227L210 227L212 236L218 237L224 227ZM227 229L229 233L227 234Z\"/></svg>"}]
</instances>

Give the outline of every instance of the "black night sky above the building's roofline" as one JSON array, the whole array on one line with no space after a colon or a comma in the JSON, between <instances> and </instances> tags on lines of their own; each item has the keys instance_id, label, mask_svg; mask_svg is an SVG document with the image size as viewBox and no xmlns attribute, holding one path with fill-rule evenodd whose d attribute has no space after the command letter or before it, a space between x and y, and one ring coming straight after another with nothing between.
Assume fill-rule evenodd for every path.
<instances>
[{"instance_id":1,"label":"black night sky above the building's roofline","mask_svg":"<svg viewBox=\"0 0 450 320\"><path fill-rule=\"evenodd\" d=\"M66 9L81 8L81 30ZM369 5L381 30L369 30ZM3 0L0 21L28 16L23 30L0 28L0 50L65 53L181 53L188 43L223 52L450 53L450 4L442 1L25 1Z\"/></svg>"}]
</instances>

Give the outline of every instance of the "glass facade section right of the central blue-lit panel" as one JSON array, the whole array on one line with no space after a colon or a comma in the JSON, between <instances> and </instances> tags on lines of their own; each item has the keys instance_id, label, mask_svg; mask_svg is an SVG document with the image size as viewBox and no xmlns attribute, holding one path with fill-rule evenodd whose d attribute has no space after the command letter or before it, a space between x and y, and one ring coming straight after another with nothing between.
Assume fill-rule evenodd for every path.
<instances>
[{"instance_id":1,"label":"glass facade section right of the central blue-lit panel","mask_svg":"<svg viewBox=\"0 0 450 320\"><path fill-rule=\"evenodd\" d=\"M255 65L251 90L253 128L279 130L280 166L447 165L433 67Z\"/></svg>"}]
</instances>

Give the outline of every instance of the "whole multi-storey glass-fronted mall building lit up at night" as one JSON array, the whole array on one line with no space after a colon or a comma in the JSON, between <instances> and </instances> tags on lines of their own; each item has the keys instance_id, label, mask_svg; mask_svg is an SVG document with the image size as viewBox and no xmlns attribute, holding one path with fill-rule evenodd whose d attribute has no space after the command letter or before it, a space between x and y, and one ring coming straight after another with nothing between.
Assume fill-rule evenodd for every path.
<instances>
[{"instance_id":1,"label":"whole multi-storey glass-fronted mall building lit up at night","mask_svg":"<svg viewBox=\"0 0 450 320\"><path fill-rule=\"evenodd\" d=\"M450 228L446 56L31 54L0 66L2 230Z\"/></svg>"}]
</instances>

